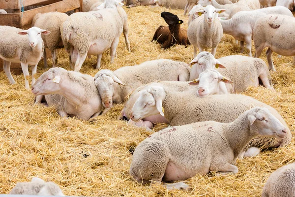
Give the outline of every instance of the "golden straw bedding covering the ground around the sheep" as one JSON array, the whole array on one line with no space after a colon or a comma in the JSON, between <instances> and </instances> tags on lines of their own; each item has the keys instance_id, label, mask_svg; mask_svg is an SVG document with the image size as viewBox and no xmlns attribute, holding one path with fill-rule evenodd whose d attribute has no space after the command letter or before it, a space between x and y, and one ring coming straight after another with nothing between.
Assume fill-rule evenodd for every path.
<instances>
[{"instance_id":1,"label":"golden straw bedding covering the ground around the sheep","mask_svg":"<svg viewBox=\"0 0 295 197\"><path fill-rule=\"evenodd\" d=\"M166 25L160 14L169 11L184 21L183 10L164 7L137 6L124 9L128 15L131 52L126 50L123 34L117 48L117 58L110 64L110 51L103 54L101 69L115 70L149 60L171 59L189 63L193 46L161 48L152 36L160 25ZM216 58L238 55L240 47L230 35L223 35ZM252 50L255 51L252 42ZM266 62L266 49L261 58ZM198 51L199 52L199 51ZM244 54L247 56L247 52ZM64 49L58 51L59 67L71 70ZM292 57L273 55L277 72L271 71L276 92L264 87L249 87L245 93L278 110L295 135L295 67ZM48 60L52 67L52 60ZM92 76L98 71L96 56L87 58L80 70ZM47 69L40 61L37 77ZM185 181L190 191L167 191L161 186L141 186L129 175L131 152L150 133L143 128L117 120L123 104L115 104L108 113L91 121L61 118L53 107L34 105L34 95L24 87L23 75L13 75L16 84L9 84L0 72L0 191L8 194L17 182L29 182L33 177L55 182L66 196L150 196L150 197L256 197L269 175L279 167L295 162L295 139L286 148L272 149L254 158L237 160L239 172L226 176L194 176ZM30 79L31 80L31 79ZM206 99L206 98L205 98ZM167 125L159 124L154 131Z\"/></svg>"}]
</instances>

